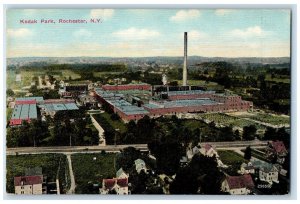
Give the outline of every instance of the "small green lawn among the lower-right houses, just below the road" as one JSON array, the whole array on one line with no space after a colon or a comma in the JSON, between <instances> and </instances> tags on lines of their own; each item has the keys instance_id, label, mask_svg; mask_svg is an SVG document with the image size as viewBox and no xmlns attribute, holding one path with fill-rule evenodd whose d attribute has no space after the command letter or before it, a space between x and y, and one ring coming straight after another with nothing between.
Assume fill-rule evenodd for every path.
<instances>
[{"instance_id":1,"label":"small green lawn among the lower-right houses, just below the road","mask_svg":"<svg viewBox=\"0 0 300 204\"><path fill-rule=\"evenodd\" d=\"M246 162L246 160L241 155L231 150L219 150L218 154L220 156L221 161L229 166L227 169L224 169L225 173L231 176L239 175L237 171L240 169L241 164L243 162Z\"/></svg>"}]
</instances>

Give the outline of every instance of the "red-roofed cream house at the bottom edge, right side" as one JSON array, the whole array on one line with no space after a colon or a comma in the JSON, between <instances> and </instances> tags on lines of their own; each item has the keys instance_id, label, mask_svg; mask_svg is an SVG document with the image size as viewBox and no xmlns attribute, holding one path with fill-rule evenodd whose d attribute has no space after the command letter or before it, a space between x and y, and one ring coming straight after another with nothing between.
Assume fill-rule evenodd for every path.
<instances>
[{"instance_id":1,"label":"red-roofed cream house at the bottom edge, right side","mask_svg":"<svg viewBox=\"0 0 300 204\"><path fill-rule=\"evenodd\" d=\"M221 190L231 195L248 195L253 188L254 183L250 174L227 176L221 185Z\"/></svg>"}]
</instances>

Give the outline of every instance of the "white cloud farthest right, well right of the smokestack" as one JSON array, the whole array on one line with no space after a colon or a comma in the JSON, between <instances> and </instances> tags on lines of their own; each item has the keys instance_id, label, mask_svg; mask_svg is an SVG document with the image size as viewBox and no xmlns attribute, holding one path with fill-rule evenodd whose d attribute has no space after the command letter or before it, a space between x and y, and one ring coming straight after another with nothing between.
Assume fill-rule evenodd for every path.
<instances>
[{"instance_id":1,"label":"white cloud farthest right, well right of the smokestack","mask_svg":"<svg viewBox=\"0 0 300 204\"><path fill-rule=\"evenodd\" d=\"M234 29L230 32L231 35L239 38L262 37L269 32L264 31L260 26L249 27L246 29Z\"/></svg>"}]
</instances>

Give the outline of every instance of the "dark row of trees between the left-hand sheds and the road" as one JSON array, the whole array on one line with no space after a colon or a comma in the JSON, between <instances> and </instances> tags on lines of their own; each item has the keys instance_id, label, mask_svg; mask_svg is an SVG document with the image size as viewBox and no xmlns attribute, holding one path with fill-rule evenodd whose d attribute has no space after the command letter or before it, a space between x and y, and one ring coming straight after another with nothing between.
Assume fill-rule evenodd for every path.
<instances>
[{"instance_id":1,"label":"dark row of trees between the left-hand sheds and the road","mask_svg":"<svg viewBox=\"0 0 300 204\"><path fill-rule=\"evenodd\" d=\"M8 128L7 147L97 145L98 132L88 124L90 118L82 111L58 111L53 119L32 119Z\"/></svg>"}]
</instances>

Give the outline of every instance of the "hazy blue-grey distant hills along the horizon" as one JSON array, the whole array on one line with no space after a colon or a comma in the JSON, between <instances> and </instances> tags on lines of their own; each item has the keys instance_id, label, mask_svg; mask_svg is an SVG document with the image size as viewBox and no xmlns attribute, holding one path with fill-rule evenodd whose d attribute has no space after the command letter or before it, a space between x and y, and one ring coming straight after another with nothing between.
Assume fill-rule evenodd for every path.
<instances>
[{"instance_id":1,"label":"hazy blue-grey distant hills along the horizon","mask_svg":"<svg viewBox=\"0 0 300 204\"><path fill-rule=\"evenodd\" d=\"M202 62L231 62L231 63L250 63L250 64L283 64L290 63L289 57L242 57L242 58L224 58L224 57L201 57L189 56L190 65ZM156 63L156 64L175 64L181 65L183 57L139 57L139 58L112 58L112 57L20 57L8 58L8 66L24 66L36 65L42 66L46 64L115 64L124 63L128 65L140 63Z\"/></svg>"}]
</instances>

